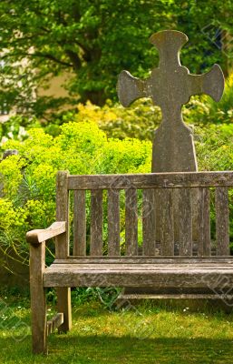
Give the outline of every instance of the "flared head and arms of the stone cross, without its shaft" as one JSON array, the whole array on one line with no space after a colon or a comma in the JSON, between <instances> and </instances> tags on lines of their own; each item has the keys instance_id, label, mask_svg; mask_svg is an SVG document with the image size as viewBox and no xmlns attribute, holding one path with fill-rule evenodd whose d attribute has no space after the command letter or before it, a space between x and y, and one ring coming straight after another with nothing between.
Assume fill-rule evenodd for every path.
<instances>
[{"instance_id":1,"label":"flared head and arms of the stone cross, without its shaft","mask_svg":"<svg viewBox=\"0 0 233 364\"><path fill-rule=\"evenodd\" d=\"M118 96L123 106L129 106L140 97L150 97L162 109L180 107L192 95L206 94L219 101L224 89L221 68L214 65L203 75L190 75L188 68L180 65L180 48L188 37L178 31L162 31L150 37L159 49L160 65L145 80L122 71L118 79Z\"/></svg>"}]
</instances>

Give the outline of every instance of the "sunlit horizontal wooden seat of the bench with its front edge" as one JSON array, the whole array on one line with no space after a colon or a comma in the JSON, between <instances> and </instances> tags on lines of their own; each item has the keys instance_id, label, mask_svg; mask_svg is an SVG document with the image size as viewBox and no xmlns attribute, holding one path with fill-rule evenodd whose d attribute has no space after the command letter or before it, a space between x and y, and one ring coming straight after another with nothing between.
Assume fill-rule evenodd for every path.
<instances>
[{"instance_id":1,"label":"sunlit horizontal wooden seat of the bench with its front edge","mask_svg":"<svg viewBox=\"0 0 233 364\"><path fill-rule=\"evenodd\" d=\"M232 288L233 258L68 258L44 270L44 287Z\"/></svg>"}]
</instances>

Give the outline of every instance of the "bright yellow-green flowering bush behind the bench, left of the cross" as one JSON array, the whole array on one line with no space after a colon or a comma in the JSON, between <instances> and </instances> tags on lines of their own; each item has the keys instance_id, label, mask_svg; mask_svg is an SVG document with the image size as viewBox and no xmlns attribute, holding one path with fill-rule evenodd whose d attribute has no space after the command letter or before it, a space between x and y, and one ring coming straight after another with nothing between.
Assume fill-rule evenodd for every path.
<instances>
[{"instance_id":1,"label":"bright yellow-green flowering bush behind the bench, left of the cross","mask_svg":"<svg viewBox=\"0 0 233 364\"><path fill-rule=\"evenodd\" d=\"M6 252L14 248L22 260L28 251L25 232L54 221L58 170L78 175L150 172L150 141L108 139L94 122L66 123L56 137L41 128L29 135L22 142L6 142L5 148L17 149L19 155L0 163L0 247Z\"/></svg>"}]
</instances>

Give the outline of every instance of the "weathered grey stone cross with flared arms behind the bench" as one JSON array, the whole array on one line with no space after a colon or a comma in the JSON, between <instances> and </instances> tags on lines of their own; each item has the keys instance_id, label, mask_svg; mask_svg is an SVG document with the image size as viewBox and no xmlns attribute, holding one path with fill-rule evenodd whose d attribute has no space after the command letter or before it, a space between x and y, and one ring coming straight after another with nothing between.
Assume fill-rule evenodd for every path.
<instances>
[{"instance_id":1,"label":"weathered grey stone cross with flared arms behind the bench","mask_svg":"<svg viewBox=\"0 0 233 364\"><path fill-rule=\"evenodd\" d=\"M219 101L224 90L224 76L218 65L203 75L190 75L189 69L180 65L180 49L187 41L187 35L175 30L151 35L150 42L159 50L159 67L145 80L128 71L119 76L117 89L123 106L150 97L161 108L162 122L153 140L152 172L197 170L191 131L183 122L181 107L192 95L207 94Z\"/></svg>"}]
</instances>

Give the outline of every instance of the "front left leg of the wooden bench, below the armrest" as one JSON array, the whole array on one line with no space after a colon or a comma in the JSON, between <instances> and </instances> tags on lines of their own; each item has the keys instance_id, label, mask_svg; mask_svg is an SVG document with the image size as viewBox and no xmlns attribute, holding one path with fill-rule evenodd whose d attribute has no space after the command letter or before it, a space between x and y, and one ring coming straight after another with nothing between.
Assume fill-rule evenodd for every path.
<instances>
[{"instance_id":1,"label":"front left leg of the wooden bench, below the armrest","mask_svg":"<svg viewBox=\"0 0 233 364\"><path fill-rule=\"evenodd\" d=\"M46 299L43 285L45 243L30 247L30 292L34 354L47 353Z\"/></svg>"}]
</instances>

